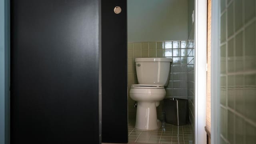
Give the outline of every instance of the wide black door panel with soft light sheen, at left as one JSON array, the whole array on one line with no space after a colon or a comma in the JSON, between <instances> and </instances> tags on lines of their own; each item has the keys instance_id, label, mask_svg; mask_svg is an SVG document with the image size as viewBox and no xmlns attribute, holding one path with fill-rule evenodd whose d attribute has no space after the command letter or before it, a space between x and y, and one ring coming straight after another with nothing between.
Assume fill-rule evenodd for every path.
<instances>
[{"instance_id":1,"label":"wide black door panel with soft light sheen, at left","mask_svg":"<svg viewBox=\"0 0 256 144\"><path fill-rule=\"evenodd\" d=\"M11 144L98 144L100 0L11 0Z\"/></svg>"}]
</instances>

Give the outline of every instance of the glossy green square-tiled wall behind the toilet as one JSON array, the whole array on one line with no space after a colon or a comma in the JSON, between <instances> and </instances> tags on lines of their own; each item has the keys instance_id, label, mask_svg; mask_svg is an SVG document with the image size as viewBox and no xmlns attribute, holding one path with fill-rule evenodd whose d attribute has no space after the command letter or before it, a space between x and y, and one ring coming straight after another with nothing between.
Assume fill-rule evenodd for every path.
<instances>
[{"instance_id":1,"label":"glossy green square-tiled wall behind the toilet","mask_svg":"<svg viewBox=\"0 0 256 144\"><path fill-rule=\"evenodd\" d=\"M165 98L188 99L188 72L194 71L193 41L162 41L162 42L134 42L128 43L128 118L135 120L135 101L129 96L132 84L138 84L135 68L135 58L172 58L170 80L166 87ZM189 44L189 45L188 45ZM194 87L194 84L193 84ZM157 107L158 119L164 121L163 102Z\"/></svg>"}]
</instances>

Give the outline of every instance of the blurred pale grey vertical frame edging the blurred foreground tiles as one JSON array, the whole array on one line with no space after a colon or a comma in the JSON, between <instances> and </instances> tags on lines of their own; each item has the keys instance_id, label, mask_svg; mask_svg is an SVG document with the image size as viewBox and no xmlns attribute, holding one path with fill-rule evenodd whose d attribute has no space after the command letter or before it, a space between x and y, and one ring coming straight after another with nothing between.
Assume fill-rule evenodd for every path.
<instances>
[{"instance_id":1,"label":"blurred pale grey vertical frame edging the blurred foreground tiles","mask_svg":"<svg viewBox=\"0 0 256 144\"><path fill-rule=\"evenodd\" d=\"M219 144L220 118L220 0L212 0L211 24L211 144Z\"/></svg>"}]
</instances>

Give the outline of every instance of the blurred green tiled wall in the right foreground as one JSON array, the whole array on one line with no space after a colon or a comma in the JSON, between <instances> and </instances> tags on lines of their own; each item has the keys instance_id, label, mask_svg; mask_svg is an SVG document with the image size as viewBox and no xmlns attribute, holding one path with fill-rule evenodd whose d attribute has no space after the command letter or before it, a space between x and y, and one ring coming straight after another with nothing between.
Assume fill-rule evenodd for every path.
<instances>
[{"instance_id":1,"label":"blurred green tiled wall in the right foreground","mask_svg":"<svg viewBox=\"0 0 256 144\"><path fill-rule=\"evenodd\" d=\"M255 144L256 1L220 3L220 143Z\"/></svg>"}]
</instances>

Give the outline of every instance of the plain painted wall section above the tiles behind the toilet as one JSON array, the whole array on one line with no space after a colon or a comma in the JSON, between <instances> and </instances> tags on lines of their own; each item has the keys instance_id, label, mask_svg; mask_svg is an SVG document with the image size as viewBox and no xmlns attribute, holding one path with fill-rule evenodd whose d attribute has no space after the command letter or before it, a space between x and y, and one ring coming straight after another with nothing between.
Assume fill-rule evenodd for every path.
<instances>
[{"instance_id":1,"label":"plain painted wall section above the tiles behind the toilet","mask_svg":"<svg viewBox=\"0 0 256 144\"><path fill-rule=\"evenodd\" d=\"M187 0L127 0L128 42L188 39Z\"/></svg>"}]
</instances>

